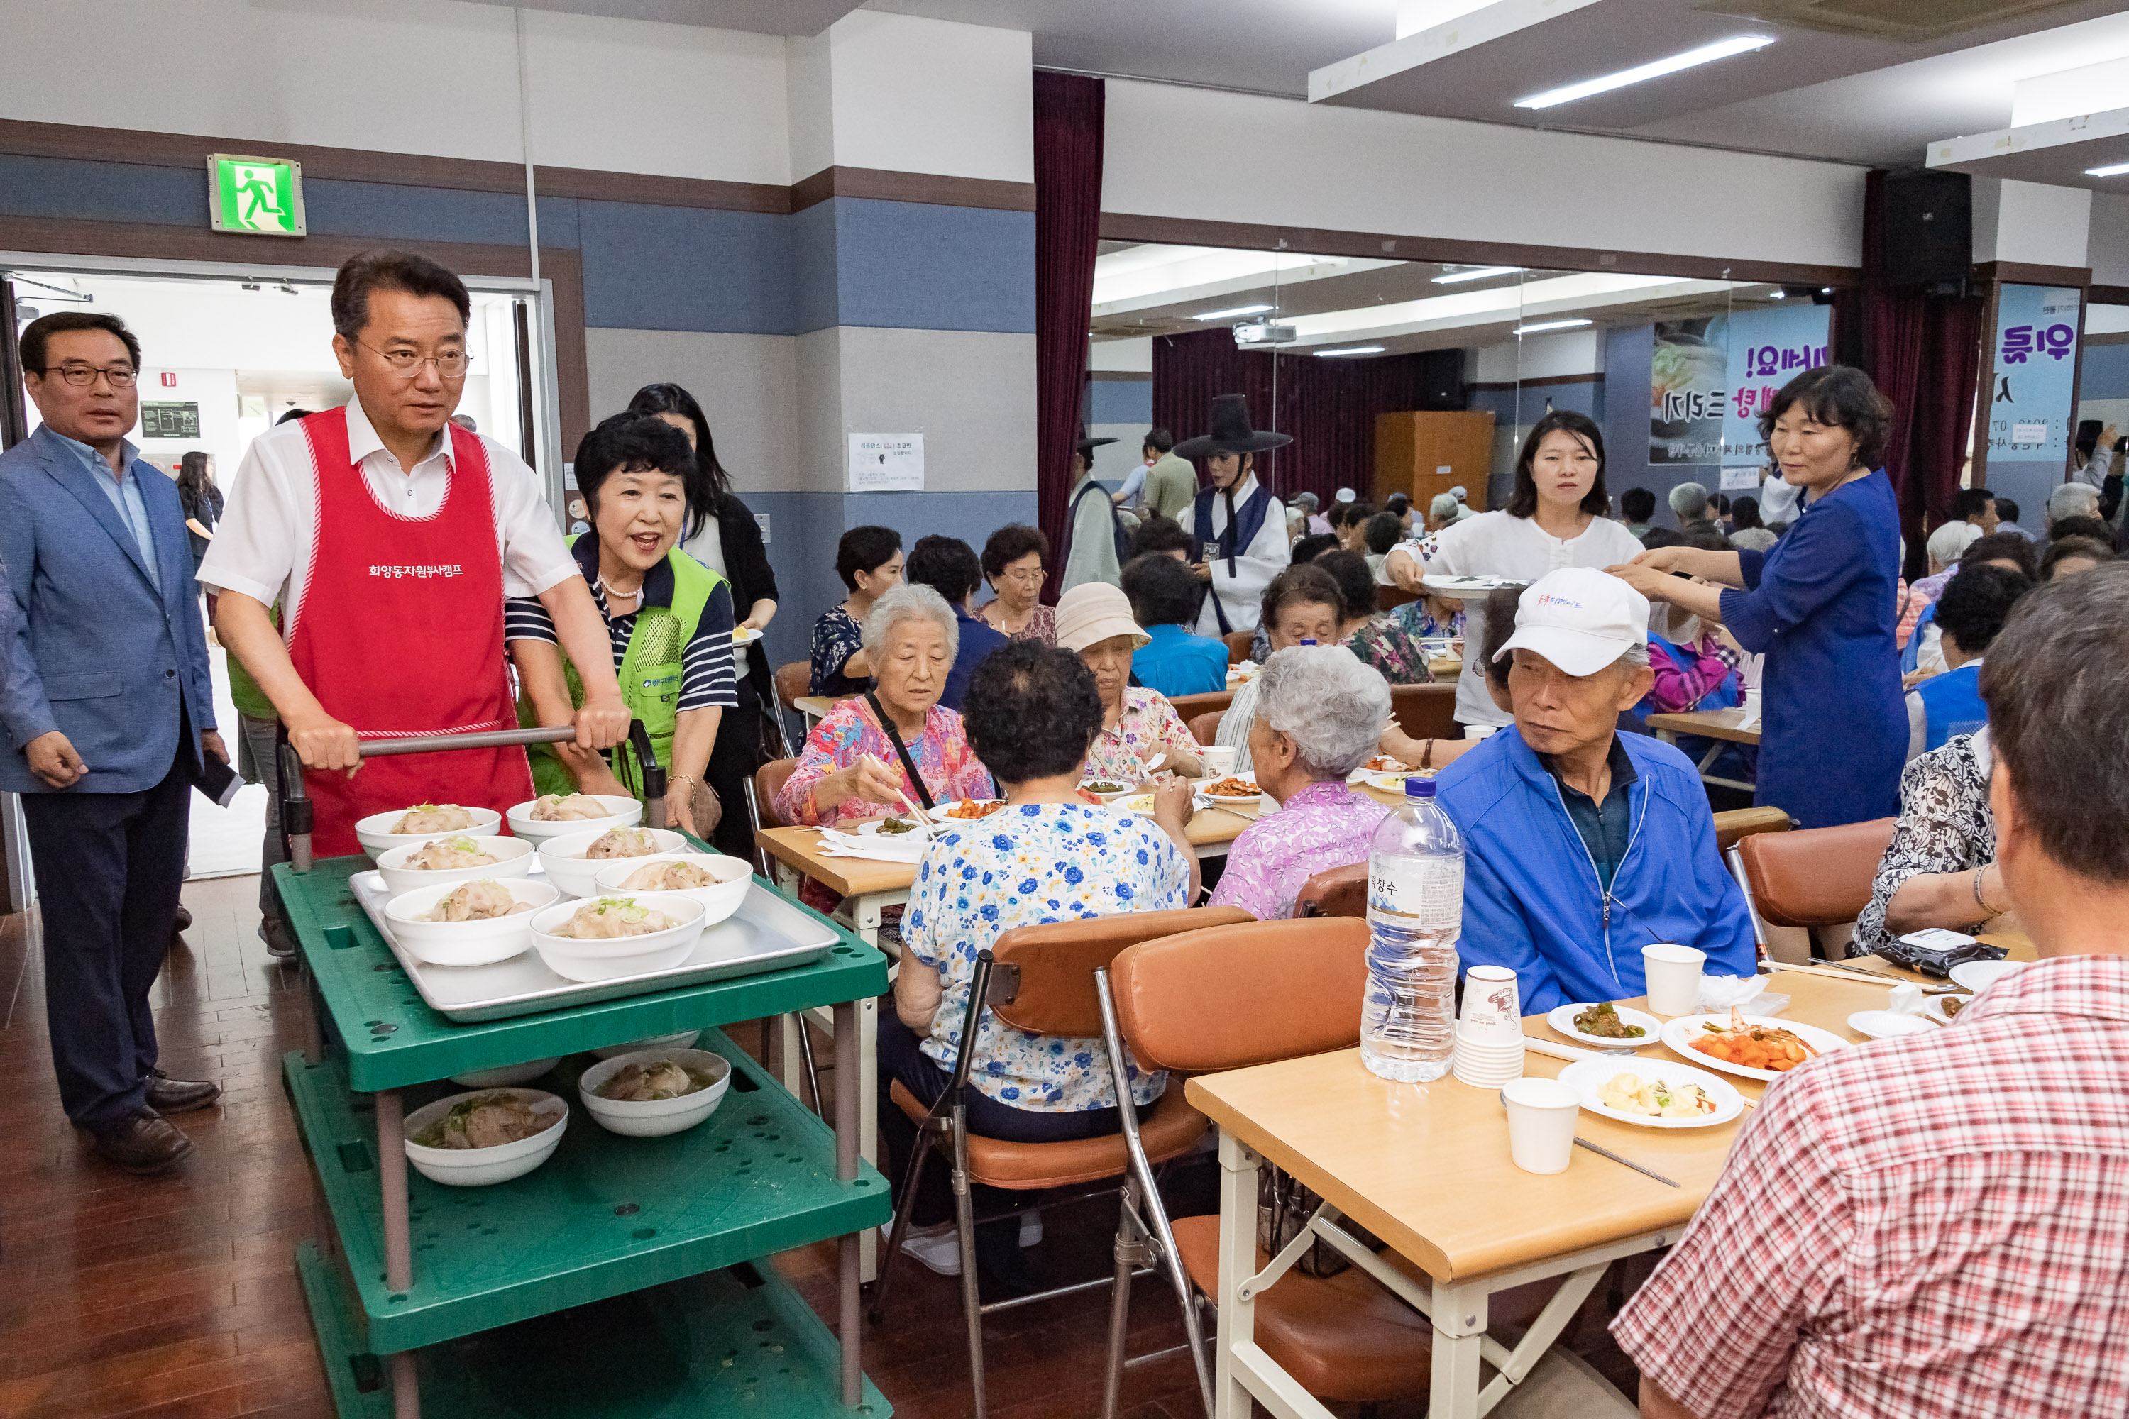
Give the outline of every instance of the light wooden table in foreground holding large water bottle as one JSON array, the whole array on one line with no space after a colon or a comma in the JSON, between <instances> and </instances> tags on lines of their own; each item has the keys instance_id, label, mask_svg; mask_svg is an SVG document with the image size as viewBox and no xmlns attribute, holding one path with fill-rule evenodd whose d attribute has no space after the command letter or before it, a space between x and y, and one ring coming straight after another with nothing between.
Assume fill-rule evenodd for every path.
<instances>
[{"instance_id":1,"label":"light wooden table in foreground holding large water bottle","mask_svg":"<svg viewBox=\"0 0 2129 1419\"><path fill-rule=\"evenodd\" d=\"M1869 981L1778 972L1769 989L1793 996L1784 1019L1831 1030L1844 1040L1854 1011L1886 1006ZM1646 1000L1629 1000L1648 1008ZM1544 1017L1522 1023L1531 1038L1571 1045ZM1676 1059L1663 1045L1641 1055ZM1524 1072L1554 1076L1565 1059L1531 1053ZM1767 1085L1724 1076L1748 1100ZM1584 1113L1575 1134L1673 1179L1667 1187L1631 1168L1575 1149L1567 1172L1539 1176L1509 1162L1507 1115L1492 1089L1454 1076L1426 1085L1377 1079L1348 1049L1192 1079L1192 1106L1220 1125L1220 1338L1216 1419L1248 1419L1254 1398L1277 1419L1331 1419L1254 1340L1254 1293L1277 1264L1258 1272L1256 1170L1271 1159L1426 1272L1414 1283L1356 1245L1339 1247L1371 1276L1433 1319L1433 1419L1475 1419L1520 1383L1558 1338L1605 1268L1624 1255L1669 1247L1707 1198L1737 1130L1654 1130ZM1326 1211L1326 1219L1335 1217ZM1318 1223L1318 1236L1324 1236ZM1333 1240L1343 1232L1328 1228ZM1565 1276L1537 1323L1509 1349L1488 1336L1495 1291ZM1480 1364L1495 1379L1480 1389ZM1633 1406L1618 1408L1631 1415Z\"/></svg>"}]
</instances>

